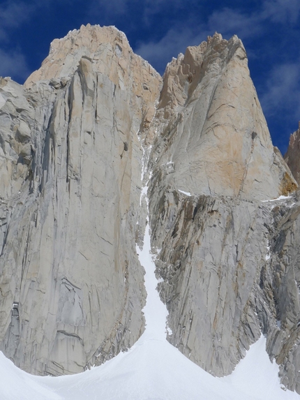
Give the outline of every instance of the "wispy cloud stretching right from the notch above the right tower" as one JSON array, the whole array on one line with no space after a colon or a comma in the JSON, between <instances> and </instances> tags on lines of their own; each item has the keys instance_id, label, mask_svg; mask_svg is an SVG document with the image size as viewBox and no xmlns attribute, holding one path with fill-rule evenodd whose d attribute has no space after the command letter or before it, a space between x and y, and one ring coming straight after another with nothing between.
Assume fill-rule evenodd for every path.
<instances>
[{"instance_id":1,"label":"wispy cloud stretching right from the notch above the right tower","mask_svg":"<svg viewBox=\"0 0 300 400\"><path fill-rule=\"evenodd\" d=\"M153 0L154 9L162 7L168 0ZM146 4L149 0L146 0ZM177 6L180 5L176 1ZM153 64L162 64L160 57L175 57L179 52L184 52L186 45L199 44L205 40L208 34L215 31L230 38L237 34L242 40L253 40L255 37L264 35L269 29L270 23L293 25L297 22L300 13L299 0L264 0L260 8L246 13L239 8L220 8L213 11L204 21L193 20L193 15L184 19L181 24L167 31L163 38L156 43L140 43L135 49L142 57L146 57ZM195 26L197 32L195 33ZM189 27L194 27L193 31Z\"/></svg>"}]
</instances>

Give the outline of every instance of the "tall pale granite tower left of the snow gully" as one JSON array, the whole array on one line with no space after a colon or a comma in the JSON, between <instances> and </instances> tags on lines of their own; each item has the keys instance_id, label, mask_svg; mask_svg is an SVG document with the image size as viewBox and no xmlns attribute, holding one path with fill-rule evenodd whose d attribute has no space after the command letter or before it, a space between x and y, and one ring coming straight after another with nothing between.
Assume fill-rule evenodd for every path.
<instances>
[{"instance_id":1,"label":"tall pale granite tower left of the snow gully","mask_svg":"<svg viewBox=\"0 0 300 400\"><path fill-rule=\"evenodd\" d=\"M0 336L18 366L58 374L103 362L144 329L137 133L160 76L114 28L54 43L30 89L1 84Z\"/></svg>"}]
</instances>

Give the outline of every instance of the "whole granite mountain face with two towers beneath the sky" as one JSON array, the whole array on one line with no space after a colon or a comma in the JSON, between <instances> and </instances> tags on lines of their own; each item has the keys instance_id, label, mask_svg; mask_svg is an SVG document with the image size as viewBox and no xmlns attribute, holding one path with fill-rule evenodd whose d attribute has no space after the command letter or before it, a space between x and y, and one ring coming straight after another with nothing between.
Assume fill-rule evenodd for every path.
<instances>
[{"instance_id":1,"label":"whole granite mountain face with two towers beneath the sky","mask_svg":"<svg viewBox=\"0 0 300 400\"><path fill-rule=\"evenodd\" d=\"M0 119L6 357L76 373L139 339L147 183L168 341L224 376L263 333L300 393L300 198L237 36L162 78L114 27L81 27L24 86L1 78Z\"/></svg>"}]
</instances>

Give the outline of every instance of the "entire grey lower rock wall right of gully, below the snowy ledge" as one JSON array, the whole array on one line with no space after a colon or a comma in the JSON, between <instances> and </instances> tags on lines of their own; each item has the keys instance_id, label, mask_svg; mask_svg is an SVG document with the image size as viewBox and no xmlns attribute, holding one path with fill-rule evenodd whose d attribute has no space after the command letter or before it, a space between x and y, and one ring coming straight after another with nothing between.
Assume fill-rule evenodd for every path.
<instances>
[{"instance_id":1,"label":"entire grey lower rock wall right of gully, below the snowy ledge","mask_svg":"<svg viewBox=\"0 0 300 400\"><path fill-rule=\"evenodd\" d=\"M249 202L170 190L153 208L168 339L214 375L230 373L262 332L283 383L299 392L299 206L297 197Z\"/></svg>"}]
</instances>

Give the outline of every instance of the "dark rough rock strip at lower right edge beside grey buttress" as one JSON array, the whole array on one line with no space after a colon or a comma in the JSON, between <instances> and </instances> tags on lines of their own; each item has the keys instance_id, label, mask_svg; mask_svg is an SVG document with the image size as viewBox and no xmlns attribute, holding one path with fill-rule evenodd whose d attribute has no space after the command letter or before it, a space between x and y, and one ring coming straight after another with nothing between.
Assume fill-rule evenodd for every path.
<instances>
[{"instance_id":1,"label":"dark rough rock strip at lower right edge beside grey buttress","mask_svg":"<svg viewBox=\"0 0 300 400\"><path fill-rule=\"evenodd\" d=\"M271 205L271 218L270 259L262 269L260 281L271 311L269 316L264 313L264 320L269 325L267 351L280 364L283 384L300 393L299 191L289 200Z\"/></svg>"}]
</instances>

